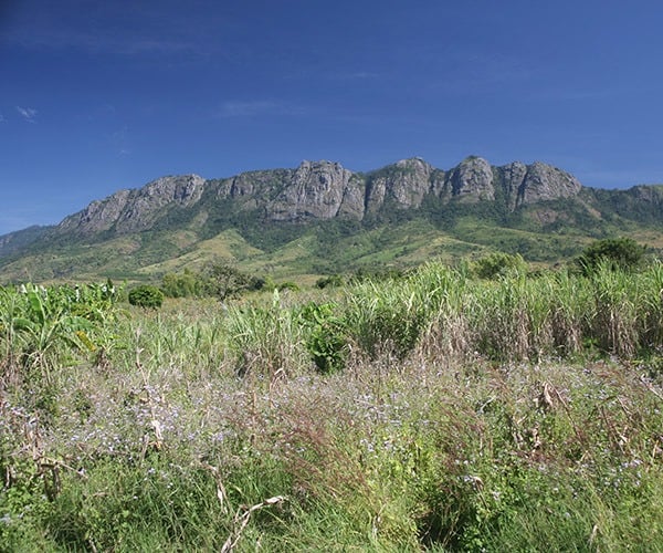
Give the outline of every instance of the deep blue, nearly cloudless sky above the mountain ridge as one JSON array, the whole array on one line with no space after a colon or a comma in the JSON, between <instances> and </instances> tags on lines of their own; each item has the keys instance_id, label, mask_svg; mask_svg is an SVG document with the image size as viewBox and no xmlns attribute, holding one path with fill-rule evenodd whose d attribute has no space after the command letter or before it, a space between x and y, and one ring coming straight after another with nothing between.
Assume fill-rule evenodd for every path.
<instances>
[{"instance_id":1,"label":"deep blue, nearly cloudless sky above the mountain ridge","mask_svg":"<svg viewBox=\"0 0 663 553\"><path fill-rule=\"evenodd\" d=\"M0 234L303 159L663 182L662 22L639 0L0 0Z\"/></svg>"}]
</instances>

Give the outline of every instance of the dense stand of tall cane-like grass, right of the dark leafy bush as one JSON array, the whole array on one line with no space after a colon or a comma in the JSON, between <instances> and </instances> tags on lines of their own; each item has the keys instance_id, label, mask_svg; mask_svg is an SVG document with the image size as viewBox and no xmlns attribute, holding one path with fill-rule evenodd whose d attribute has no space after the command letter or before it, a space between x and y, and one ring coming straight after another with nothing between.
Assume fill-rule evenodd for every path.
<instances>
[{"instance_id":1,"label":"dense stand of tall cane-like grass, right of the dark leafy bush","mask_svg":"<svg viewBox=\"0 0 663 553\"><path fill-rule=\"evenodd\" d=\"M346 298L352 342L371 358L415 348L497 361L568 356L596 347L632 358L661 346L661 263L642 273L608 265L471 280L425 265L406 279L364 283Z\"/></svg>"}]
</instances>

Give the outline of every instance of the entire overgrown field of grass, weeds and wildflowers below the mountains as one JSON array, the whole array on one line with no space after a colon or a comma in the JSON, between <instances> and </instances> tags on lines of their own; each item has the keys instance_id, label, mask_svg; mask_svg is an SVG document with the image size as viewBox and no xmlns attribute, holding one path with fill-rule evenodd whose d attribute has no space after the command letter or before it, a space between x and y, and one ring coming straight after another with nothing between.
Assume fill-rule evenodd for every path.
<instances>
[{"instance_id":1,"label":"entire overgrown field of grass, weeds and wildflowers below the mountains","mask_svg":"<svg viewBox=\"0 0 663 553\"><path fill-rule=\"evenodd\" d=\"M1 547L655 551L663 265L513 265L1 289Z\"/></svg>"}]
</instances>

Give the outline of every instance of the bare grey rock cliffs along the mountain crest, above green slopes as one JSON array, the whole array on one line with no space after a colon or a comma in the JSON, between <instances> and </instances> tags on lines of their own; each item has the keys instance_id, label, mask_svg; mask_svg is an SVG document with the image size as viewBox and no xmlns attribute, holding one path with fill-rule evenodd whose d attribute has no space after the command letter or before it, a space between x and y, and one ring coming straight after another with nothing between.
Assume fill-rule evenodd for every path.
<instances>
[{"instance_id":1,"label":"bare grey rock cliffs along the mountain crest, above green slopes","mask_svg":"<svg viewBox=\"0 0 663 553\"><path fill-rule=\"evenodd\" d=\"M499 192L516 209L573 196L580 189L571 175L538 161L494 167L481 157L469 157L444 171L411 158L367 175L338 163L303 161L296 169L252 171L227 179L164 177L140 189L93 201L62 221L56 232L136 232L152 228L173 208L204 210L214 201L232 201L236 210L257 210L272 221L303 222L361 220L387 206L415 209L431 195L445 201L477 202L492 201Z\"/></svg>"}]
</instances>

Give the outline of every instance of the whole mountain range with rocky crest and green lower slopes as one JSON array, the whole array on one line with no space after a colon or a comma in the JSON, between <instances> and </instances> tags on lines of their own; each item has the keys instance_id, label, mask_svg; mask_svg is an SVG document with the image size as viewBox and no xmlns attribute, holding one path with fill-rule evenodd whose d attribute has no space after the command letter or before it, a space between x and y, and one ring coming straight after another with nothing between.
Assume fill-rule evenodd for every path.
<instances>
[{"instance_id":1,"label":"whole mountain range with rocky crest and green lower slopes","mask_svg":"<svg viewBox=\"0 0 663 553\"><path fill-rule=\"evenodd\" d=\"M252 272L316 275L499 249L555 262L588 240L663 246L663 186L607 190L536 161L421 158L356 173L303 161L206 179L168 176L95 200L51 227L0 237L0 280L149 280L229 259Z\"/></svg>"}]
</instances>

